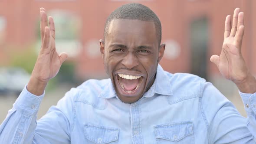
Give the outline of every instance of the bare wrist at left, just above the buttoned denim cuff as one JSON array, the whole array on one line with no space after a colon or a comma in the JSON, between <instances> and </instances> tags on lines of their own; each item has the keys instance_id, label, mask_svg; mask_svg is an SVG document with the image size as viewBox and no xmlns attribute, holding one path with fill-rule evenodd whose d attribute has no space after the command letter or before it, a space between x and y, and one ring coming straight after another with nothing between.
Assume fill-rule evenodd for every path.
<instances>
[{"instance_id":1,"label":"bare wrist at left, just above the buttoned denim cuff","mask_svg":"<svg viewBox=\"0 0 256 144\"><path fill-rule=\"evenodd\" d=\"M48 81L41 81L31 76L28 85L26 86L27 90L33 95L43 95L43 92L46 88Z\"/></svg>"}]
</instances>

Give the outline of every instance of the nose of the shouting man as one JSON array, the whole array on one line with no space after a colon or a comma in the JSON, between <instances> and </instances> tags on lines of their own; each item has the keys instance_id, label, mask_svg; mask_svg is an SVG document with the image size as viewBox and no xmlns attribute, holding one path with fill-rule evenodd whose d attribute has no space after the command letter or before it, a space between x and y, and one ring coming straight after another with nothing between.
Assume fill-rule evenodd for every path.
<instances>
[{"instance_id":1,"label":"nose of the shouting man","mask_svg":"<svg viewBox=\"0 0 256 144\"><path fill-rule=\"evenodd\" d=\"M132 69L138 65L138 58L132 52L129 52L121 62L126 68Z\"/></svg>"}]
</instances>

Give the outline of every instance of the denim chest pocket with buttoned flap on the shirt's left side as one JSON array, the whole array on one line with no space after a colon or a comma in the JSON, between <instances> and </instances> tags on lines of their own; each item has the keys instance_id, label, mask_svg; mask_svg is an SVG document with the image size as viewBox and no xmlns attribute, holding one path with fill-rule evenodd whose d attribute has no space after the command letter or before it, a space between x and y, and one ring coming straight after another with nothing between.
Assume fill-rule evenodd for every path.
<instances>
[{"instance_id":1,"label":"denim chest pocket with buttoned flap on the shirt's left side","mask_svg":"<svg viewBox=\"0 0 256 144\"><path fill-rule=\"evenodd\" d=\"M93 144L118 144L119 130L95 124L85 124L85 138Z\"/></svg>"}]
</instances>

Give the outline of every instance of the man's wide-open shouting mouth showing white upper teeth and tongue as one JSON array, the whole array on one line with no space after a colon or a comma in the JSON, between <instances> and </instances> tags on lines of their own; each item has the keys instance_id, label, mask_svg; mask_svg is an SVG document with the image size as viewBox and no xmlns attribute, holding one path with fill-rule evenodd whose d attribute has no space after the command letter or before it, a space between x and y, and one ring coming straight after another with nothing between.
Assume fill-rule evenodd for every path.
<instances>
[{"instance_id":1,"label":"man's wide-open shouting mouth showing white upper teeth and tongue","mask_svg":"<svg viewBox=\"0 0 256 144\"><path fill-rule=\"evenodd\" d=\"M118 74L117 79L122 90L127 93L133 93L140 87L143 77Z\"/></svg>"}]
</instances>

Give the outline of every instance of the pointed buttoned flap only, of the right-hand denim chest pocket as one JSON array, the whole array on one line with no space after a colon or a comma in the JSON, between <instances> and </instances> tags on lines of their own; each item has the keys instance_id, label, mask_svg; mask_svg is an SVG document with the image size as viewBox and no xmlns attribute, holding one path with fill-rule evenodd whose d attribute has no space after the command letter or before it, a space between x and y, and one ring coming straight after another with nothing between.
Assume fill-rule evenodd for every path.
<instances>
[{"instance_id":1,"label":"pointed buttoned flap only, of the right-hand denim chest pocket","mask_svg":"<svg viewBox=\"0 0 256 144\"><path fill-rule=\"evenodd\" d=\"M182 121L169 124L161 124L154 127L156 138L169 141L180 141L182 138L193 134L192 121Z\"/></svg>"}]
</instances>

